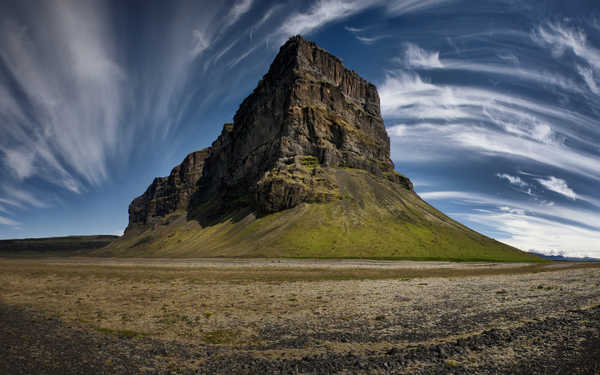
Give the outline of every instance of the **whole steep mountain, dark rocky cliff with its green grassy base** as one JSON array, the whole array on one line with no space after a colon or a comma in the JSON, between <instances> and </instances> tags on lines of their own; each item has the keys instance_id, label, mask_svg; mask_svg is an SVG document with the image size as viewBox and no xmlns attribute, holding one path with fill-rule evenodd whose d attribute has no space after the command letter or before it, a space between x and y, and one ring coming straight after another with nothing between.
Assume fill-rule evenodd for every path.
<instances>
[{"instance_id":1,"label":"whole steep mountain, dark rocky cliff with its green grassy base","mask_svg":"<svg viewBox=\"0 0 600 375\"><path fill-rule=\"evenodd\" d=\"M536 261L394 170L376 87L295 36L204 150L156 178L105 254Z\"/></svg>"}]
</instances>

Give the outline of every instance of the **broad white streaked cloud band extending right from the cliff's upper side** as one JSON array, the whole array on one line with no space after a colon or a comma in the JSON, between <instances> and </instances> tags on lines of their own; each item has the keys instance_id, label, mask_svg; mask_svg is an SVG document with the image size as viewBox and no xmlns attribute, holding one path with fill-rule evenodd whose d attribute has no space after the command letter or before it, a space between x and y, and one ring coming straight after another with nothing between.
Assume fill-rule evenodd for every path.
<instances>
[{"instance_id":1,"label":"broad white streaked cloud band extending right from the cliff's upper side","mask_svg":"<svg viewBox=\"0 0 600 375\"><path fill-rule=\"evenodd\" d=\"M436 85L405 71L390 72L379 88L384 117L398 119L389 134L403 158L447 159L459 154L441 150L467 148L600 179L600 155L565 142L595 148L581 131L599 136L597 119L497 89ZM424 144L434 151L423 155ZM421 149L407 155L407 147Z\"/></svg>"}]
</instances>

